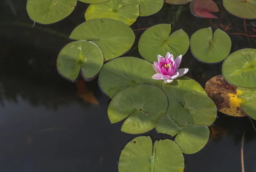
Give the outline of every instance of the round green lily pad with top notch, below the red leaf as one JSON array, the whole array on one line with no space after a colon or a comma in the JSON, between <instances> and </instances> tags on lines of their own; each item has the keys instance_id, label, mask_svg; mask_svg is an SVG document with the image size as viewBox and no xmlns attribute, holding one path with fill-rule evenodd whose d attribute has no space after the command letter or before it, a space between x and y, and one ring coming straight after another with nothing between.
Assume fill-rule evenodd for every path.
<instances>
[{"instance_id":1,"label":"round green lily pad with top notch, below the red leaf","mask_svg":"<svg viewBox=\"0 0 256 172\"><path fill-rule=\"evenodd\" d=\"M201 62L220 63L230 54L231 40L221 29L217 29L212 36L212 28L204 28L192 34L190 49Z\"/></svg>"}]
</instances>

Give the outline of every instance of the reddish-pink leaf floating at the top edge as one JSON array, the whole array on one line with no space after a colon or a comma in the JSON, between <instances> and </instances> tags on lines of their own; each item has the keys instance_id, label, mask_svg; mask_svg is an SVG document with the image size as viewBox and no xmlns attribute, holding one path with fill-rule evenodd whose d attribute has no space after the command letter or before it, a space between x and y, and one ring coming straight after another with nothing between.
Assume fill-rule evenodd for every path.
<instances>
[{"instance_id":1,"label":"reddish-pink leaf floating at the top edge","mask_svg":"<svg viewBox=\"0 0 256 172\"><path fill-rule=\"evenodd\" d=\"M212 0L195 0L194 11L198 16L205 18L218 18L210 12L218 12L218 6Z\"/></svg>"}]
</instances>

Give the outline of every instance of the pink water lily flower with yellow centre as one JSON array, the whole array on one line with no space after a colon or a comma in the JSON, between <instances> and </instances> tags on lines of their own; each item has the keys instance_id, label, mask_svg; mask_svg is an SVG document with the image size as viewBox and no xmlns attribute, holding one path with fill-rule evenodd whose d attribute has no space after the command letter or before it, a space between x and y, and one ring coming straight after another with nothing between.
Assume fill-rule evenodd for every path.
<instances>
[{"instance_id":1,"label":"pink water lily flower with yellow centre","mask_svg":"<svg viewBox=\"0 0 256 172\"><path fill-rule=\"evenodd\" d=\"M165 83L172 83L177 77L185 75L189 69L180 67L182 55L179 55L175 60L173 55L169 52L166 54L166 58L158 55L158 62L152 64L154 70L157 72L152 78L155 80L164 80Z\"/></svg>"}]
</instances>

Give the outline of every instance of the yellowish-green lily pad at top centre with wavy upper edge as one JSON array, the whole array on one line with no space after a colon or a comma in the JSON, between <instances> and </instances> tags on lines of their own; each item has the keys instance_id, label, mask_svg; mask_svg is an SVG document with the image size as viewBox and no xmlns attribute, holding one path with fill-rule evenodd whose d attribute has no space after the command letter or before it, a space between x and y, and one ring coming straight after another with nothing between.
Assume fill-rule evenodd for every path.
<instances>
[{"instance_id":1,"label":"yellowish-green lily pad at top centre with wavy upper edge","mask_svg":"<svg viewBox=\"0 0 256 172\"><path fill-rule=\"evenodd\" d=\"M121 0L110 0L106 3L91 4L85 11L85 19L111 18L131 26L139 17L139 6L124 6Z\"/></svg>"}]
</instances>

